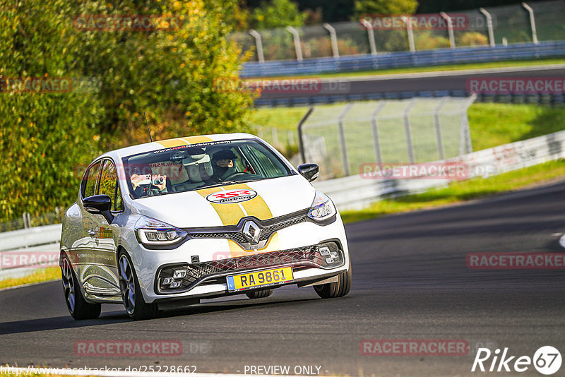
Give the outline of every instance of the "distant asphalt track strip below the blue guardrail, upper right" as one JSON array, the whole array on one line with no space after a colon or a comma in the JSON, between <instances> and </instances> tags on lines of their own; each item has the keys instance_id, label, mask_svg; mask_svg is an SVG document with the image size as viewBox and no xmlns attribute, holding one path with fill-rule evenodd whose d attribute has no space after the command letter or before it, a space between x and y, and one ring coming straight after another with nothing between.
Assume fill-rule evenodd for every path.
<instances>
[{"instance_id":1,"label":"distant asphalt track strip below the blue guardrail, upper right","mask_svg":"<svg viewBox=\"0 0 565 377\"><path fill-rule=\"evenodd\" d=\"M367 95L381 92L420 92L463 90L469 91L468 80L476 78L565 78L563 64L553 66L530 66L511 68L487 68L466 71L444 71L428 73L406 73L353 78L327 78L316 85L316 77L310 78L314 85L293 87L284 90L270 83L273 89L265 89L261 99L319 97L327 95ZM268 82L268 79L266 79Z\"/></svg>"}]
</instances>

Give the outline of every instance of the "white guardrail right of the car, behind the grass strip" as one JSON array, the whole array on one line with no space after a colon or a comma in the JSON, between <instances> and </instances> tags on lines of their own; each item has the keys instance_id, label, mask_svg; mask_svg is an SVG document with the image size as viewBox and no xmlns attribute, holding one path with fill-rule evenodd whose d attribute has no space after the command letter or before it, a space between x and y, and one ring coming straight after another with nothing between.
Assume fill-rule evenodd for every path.
<instances>
[{"instance_id":1,"label":"white guardrail right of the car, behind the grass strip","mask_svg":"<svg viewBox=\"0 0 565 377\"><path fill-rule=\"evenodd\" d=\"M479 150L446 162L466 164L469 178L492 176L550 160L565 158L565 131L528 140ZM340 210L363 208L381 198L420 193L428 188L446 186L445 179L363 179L360 174L328 181L314 181L314 186L332 198Z\"/></svg>"}]
</instances>

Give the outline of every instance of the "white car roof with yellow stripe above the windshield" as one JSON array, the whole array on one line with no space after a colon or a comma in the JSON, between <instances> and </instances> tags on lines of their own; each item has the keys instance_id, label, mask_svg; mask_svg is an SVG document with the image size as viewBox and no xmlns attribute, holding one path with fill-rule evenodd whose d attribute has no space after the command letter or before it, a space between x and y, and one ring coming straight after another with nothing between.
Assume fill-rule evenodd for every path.
<instances>
[{"instance_id":1,"label":"white car roof with yellow stripe above the windshield","mask_svg":"<svg viewBox=\"0 0 565 377\"><path fill-rule=\"evenodd\" d=\"M224 140L238 140L238 139L258 139L256 136L250 133L217 133L213 135L201 135L201 136L185 136L182 138L173 138L167 140L155 140L151 143L144 143L138 145L131 145L130 147L120 148L117 150L110 150L96 158L102 157L117 157L123 158L131 155L137 155L138 153L151 152L153 150L160 150L163 148L174 148L182 145L191 145L198 143L206 143L210 141L224 141Z\"/></svg>"}]
</instances>

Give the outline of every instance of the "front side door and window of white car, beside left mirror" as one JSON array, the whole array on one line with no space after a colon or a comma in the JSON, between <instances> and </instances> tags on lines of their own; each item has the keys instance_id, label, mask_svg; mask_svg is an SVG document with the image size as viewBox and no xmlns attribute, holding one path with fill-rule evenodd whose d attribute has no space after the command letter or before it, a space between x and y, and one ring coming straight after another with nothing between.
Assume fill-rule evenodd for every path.
<instances>
[{"instance_id":1,"label":"front side door and window of white car, beside left mirror","mask_svg":"<svg viewBox=\"0 0 565 377\"><path fill-rule=\"evenodd\" d=\"M97 195L107 195L112 200L112 214L115 216L111 224L102 215L92 215L93 243L89 269L85 284L88 293L97 296L119 295L117 277L117 240L119 236L119 217L123 213L123 202L119 191L116 165L112 160L102 160Z\"/></svg>"}]
</instances>

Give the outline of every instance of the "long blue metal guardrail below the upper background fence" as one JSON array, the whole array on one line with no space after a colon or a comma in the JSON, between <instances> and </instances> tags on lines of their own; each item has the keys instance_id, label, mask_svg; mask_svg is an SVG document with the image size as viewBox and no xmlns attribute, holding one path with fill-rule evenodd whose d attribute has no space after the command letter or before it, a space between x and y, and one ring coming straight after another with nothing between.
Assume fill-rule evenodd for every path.
<instances>
[{"instance_id":1,"label":"long blue metal guardrail below the upper background fence","mask_svg":"<svg viewBox=\"0 0 565 377\"><path fill-rule=\"evenodd\" d=\"M376 55L341 56L337 59L319 58L304 59L302 61L247 62L243 65L240 76L251 78L316 75L386 68L539 59L564 55L565 41L539 42L538 44L520 43L495 47L456 47L417 52L386 52Z\"/></svg>"}]
</instances>

